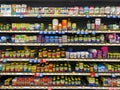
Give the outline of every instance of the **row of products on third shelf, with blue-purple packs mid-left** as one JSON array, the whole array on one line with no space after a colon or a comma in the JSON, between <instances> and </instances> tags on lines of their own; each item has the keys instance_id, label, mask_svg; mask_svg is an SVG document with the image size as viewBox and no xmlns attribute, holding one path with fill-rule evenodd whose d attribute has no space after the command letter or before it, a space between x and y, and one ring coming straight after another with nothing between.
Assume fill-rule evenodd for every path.
<instances>
[{"instance_id":1,"label":"row of products on third shelf, with blue-purple packs mid-left","mask_svg":"<svg viewBox=\"0 0 120 90\"><path fill-rule=\"evenodd\" d=\"M101 35L12 35L0 36L0 43L120 43L120 36L117 34Z\"/></svg>"}]
</instances>

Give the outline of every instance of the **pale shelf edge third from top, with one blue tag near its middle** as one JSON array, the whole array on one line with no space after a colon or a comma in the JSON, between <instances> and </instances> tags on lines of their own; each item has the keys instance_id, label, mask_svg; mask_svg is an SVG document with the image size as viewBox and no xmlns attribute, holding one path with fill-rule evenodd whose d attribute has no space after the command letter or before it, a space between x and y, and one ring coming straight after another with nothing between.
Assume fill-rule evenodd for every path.
<instances>
[{"instance_id":1,"label":"pale shelf edge third from top, with one blue tag near its middle","mask_svg":"<svg viewBox=\"0 0 120 90\"><path fill-rule=\"evenodd\" d=\"M116 44L102 43L0 43L0 46L120 46Z\"/></svg>"}]
</instances>

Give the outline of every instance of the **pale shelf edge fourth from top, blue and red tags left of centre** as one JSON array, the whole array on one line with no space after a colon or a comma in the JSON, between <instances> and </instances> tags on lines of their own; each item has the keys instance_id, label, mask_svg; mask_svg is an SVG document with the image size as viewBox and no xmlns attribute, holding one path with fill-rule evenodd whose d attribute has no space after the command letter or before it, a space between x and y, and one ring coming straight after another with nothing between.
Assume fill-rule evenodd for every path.
<instances>
[{"instance_id":1,"label":"pale shelf edge fourth from top, blue and red tags left of centre","mask_svg":"<svg viewBox=\"0 0 120 90\"><path fill-rule=\"evenodd\" d=\"M35 58L33 58L34 60ZM31 59L28 58L1 58L0 61L29 61ZM41 59L37 59L41 60ZM60 58L60 59L46 59L46 61L85 61L85 62L120 62L120 59L67 59L67 58Z\"/></svg>"}]
</instances>

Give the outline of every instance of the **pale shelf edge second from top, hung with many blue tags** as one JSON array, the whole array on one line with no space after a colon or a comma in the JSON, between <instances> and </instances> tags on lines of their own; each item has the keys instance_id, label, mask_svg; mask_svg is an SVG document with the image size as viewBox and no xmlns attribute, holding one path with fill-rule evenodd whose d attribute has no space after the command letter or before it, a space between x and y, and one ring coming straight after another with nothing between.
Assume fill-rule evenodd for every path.
<instances>
[{"instance_id":1,"label":"pale shelf edge second from top, hung with many blue tags","mask_svg":"<svg viewBox=\"0 0 120 90\"><path fill-rule=\"evenodd\" d=\"M37 30L31 30L31 31L12 31L12 30L0 30L0 33L42 33L42 34L54 34L54 33L59 33L60 31L37 31ZM60 33L80 33L80 31L62 31ZM87 33L120 33L120 30L103 30L103 31L94 31L94 30L88 30Z\"/></svg>"}]
</instances>

